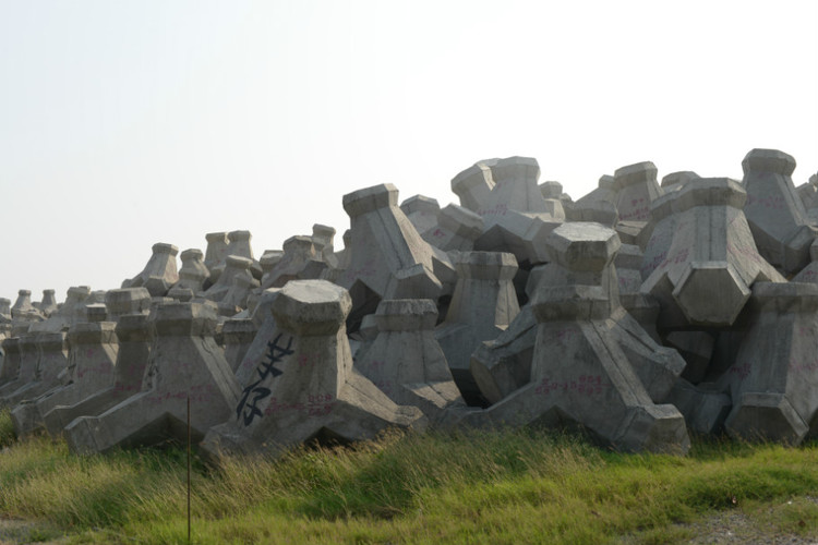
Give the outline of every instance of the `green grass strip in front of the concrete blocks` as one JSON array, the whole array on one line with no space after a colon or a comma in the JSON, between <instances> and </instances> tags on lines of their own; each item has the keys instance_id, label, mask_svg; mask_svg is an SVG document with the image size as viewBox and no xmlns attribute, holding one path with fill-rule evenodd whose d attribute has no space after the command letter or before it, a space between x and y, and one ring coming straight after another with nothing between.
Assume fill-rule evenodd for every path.
<instances>
[{"instance_id":1,"label":"green grass strip in front of the concrete blocks","mask_svg":"<svg viewBox=\"0 0 818 545\"><path fill-rule=\"evenodd\" d=\"M75 543L185 543L181 450L75 457L16 441L7 420L0 517ZM732 509L815 535L818 508L803 498L818 491L818 448L698 439L681 458L544 432L392 433L279 460L196 460L192 489L193 543L673 543L690 536L678 523Z\"/></svg>"}]
</instances>

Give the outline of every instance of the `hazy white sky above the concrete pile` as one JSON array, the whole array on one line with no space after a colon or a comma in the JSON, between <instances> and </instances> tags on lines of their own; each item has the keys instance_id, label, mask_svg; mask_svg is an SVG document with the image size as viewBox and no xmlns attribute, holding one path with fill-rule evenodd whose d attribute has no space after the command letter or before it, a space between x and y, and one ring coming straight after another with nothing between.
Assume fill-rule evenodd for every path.
<instances>
[{"instance_id":1,"label":"hazy white sky above the concrete pile","mask_svg":"<svg viewBox=\"0 0 818 545\"><path fill-rule=\"evenodd\" d=\"M155 242L256 257L344 194L441 206L536 157L575 199L652 160L818 171L818 1L0 0L0 296L118 288Z\"/></svg>"}]
</instances>

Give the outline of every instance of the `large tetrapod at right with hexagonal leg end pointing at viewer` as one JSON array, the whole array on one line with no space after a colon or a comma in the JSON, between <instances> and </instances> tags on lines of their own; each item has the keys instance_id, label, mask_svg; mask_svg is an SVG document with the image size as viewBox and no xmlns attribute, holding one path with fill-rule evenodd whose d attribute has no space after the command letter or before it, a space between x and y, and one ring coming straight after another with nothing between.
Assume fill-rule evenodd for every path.
<instances>
[{"instance_id":1,"label":"large tetrapod at right with hexagonal leg end pointing at viewer","mask_svg":"<svg viewBox=\"0 0 818 545\"><path fill-rule=\"evenodd\" d=\"M754 282L785 281L756 249L742 211L746 193L737 182L691 180L671 199L677 215L673 240L641 288L662 306L660 329L727 327Z\"/></svg>"}]
</instances>

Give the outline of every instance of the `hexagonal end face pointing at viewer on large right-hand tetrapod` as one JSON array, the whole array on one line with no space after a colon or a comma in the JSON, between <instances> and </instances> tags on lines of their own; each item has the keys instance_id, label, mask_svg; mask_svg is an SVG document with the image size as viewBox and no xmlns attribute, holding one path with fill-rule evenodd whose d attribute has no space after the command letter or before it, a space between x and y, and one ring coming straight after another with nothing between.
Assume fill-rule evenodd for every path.
<instances>
[{"instance_id":1,"label":"hexagonal end face pointing at viewer on large right-hand tetrapod","mask_svg":"<svg viewBox=\"0 0 818 545\"><path fill-rule=\"evenodd\" d=\"M727 262L691 262L673 290L673 299L693 325L733 325L750 290Z\"/></svg>"}]
</instances>

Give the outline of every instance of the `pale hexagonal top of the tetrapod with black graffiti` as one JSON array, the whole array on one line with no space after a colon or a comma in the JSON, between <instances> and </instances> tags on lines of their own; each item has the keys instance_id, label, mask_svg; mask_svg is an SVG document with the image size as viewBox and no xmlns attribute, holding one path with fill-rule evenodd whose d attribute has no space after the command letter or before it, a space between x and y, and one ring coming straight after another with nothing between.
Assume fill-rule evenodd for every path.
<instances>
[{"instance_id":1,"label":"pale hexagonal top of the tetrapod with black graffiti","mask_svg":"<svg viewBox=\"0 0 818 545\"><path fill-rule=\"evenodd\" d=\"M291 280L270 305L276 324L297 336L334 335L344 325L352 299L326 280Z\"/></svg>"}]
</instances>

